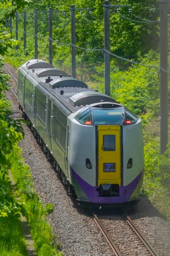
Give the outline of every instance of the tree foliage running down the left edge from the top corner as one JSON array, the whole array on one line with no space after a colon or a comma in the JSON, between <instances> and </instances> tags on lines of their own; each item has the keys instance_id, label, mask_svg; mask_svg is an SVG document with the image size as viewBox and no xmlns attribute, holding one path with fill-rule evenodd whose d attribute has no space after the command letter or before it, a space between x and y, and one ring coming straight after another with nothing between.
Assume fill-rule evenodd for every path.
<instances>
[{"instance_id":1,"label":"tree foliage running down the left edge from the top corner","mask_svg":"<svg viewBox=\"0 0 170 256\"><path fill-rule=\"evenodd\" d=\"M13 0L0 1L3 6L8 7L4 17L0 19L1 56L4 56L7 49L12 48L13 44L17 44L15 40L10 39L10 33L4 28L4 19L8 19L9 16L13 17L14 13L25 7L28 2L28 0L15 0L15 2ZM27 216L23 203L16 199L18 192L20 193L21 191L14 192L10 188L11 182L8 177L10 161L7 159L7 155L12 153L13 146L24 136L21 122L23 123L25 121L10 118L11 112L8 110L9 103L5 100L3 95L3 93L8 90L8 76L1 71L2 67L3 63L2 59L0 59L0 217L5 217L8 214L20 216L19 212Z\"/></svg>"}]
</instances>

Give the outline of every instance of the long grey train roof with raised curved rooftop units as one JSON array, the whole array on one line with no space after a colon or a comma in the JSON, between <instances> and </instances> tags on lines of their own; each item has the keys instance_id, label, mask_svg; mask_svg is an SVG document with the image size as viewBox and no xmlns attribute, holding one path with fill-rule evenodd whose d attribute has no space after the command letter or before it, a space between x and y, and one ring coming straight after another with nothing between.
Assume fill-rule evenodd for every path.
<instances>
[{"instance_id":1,"label":"long grey train roof with raised curved rooftop units","mask_svg":"<svg viewBox=\"0 0 170 256\"><path fill-rule=\"evenodd\" d=\"M70 112L98 102L117 103L109 96L94 91L78 79L67 77L61 70L49 67L48 63L31 61L23 64L18 70L38 89L43 88L43 93L51 94ZM41 68L46 65L46 68ZM47 67L48 66L48 67ZM29 67L32 67L29 69ZM37 67L37 68L35 68ZM19 76L19 73L18 73ZM44 91L45 89L45 91ZM47 93L48 92L48 93ZM55 101L54 99L52 101Z\"/></svg>"}]
</instances>

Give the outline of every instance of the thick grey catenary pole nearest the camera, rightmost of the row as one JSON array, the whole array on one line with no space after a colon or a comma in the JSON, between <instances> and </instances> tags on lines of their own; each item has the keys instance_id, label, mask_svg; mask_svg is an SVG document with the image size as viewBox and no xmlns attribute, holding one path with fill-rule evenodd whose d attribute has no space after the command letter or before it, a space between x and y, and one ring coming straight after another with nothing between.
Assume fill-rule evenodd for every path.
<instances>
[{"instance_id":1,"label":"thick grey catenary pole nearest the camera, rightmost of the row","mask_svg":"<svg viewBox=\"0 0 170 256\"><path fill-rule=\"evenodd\" d=\"M167 11L168 0L159 0L160 13L160 68L167 71ZM167 73L160 69L160 154L168 143L168 84Z\"/></svg>"}]
</instances>

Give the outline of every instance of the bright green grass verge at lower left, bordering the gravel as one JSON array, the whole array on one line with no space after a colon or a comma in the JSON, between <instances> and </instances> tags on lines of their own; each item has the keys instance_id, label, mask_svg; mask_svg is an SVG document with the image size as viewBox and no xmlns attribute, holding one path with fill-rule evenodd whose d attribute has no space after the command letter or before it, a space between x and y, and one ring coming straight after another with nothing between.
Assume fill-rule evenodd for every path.
<instances>
[{"instance_id":1,"label":"bright green grass verge at lower left, bordering the gravel","mask_svg":"<svg viewBox=\"0 0 170 256\"><path fill-rule=\"evenodd\" d=\"M10 171L15 180L17 189L30 194L34 194L32 200L26 200L24 193L21 195L22 202L26 203L26 210L30 212L28 223L32 239L34 240L35 250L38 256L61 256L54 243L52 228L49 226L46 215L52 211L52 205L42 205L33 188L33 181L29 167L24 164L21 157L21 149L14 147L13 154L9 156L11 167ZM15 254L16 255L16 254ZM20 254L18 254L20 256Z\"/></svg>"}]
</instances>

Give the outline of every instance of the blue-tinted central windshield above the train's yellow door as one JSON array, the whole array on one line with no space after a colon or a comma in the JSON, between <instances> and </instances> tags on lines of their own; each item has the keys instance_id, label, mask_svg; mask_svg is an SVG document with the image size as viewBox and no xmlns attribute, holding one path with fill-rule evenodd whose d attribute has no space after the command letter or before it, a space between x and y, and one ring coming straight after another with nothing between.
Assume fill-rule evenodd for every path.
<instances>
[{"instance_id":1,"label":"blue-tinted central windshield above the train's yellow door","mask_svg":"<svg viewBox=\"0 0 170 256\"><path fill-rule=\"evenodd\" d=\"M122 125L123 109L92 109L94 125Z\"/></svg>"}]
</instances>

